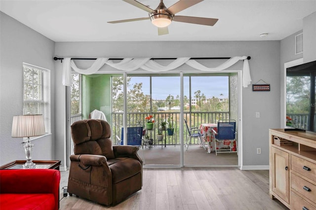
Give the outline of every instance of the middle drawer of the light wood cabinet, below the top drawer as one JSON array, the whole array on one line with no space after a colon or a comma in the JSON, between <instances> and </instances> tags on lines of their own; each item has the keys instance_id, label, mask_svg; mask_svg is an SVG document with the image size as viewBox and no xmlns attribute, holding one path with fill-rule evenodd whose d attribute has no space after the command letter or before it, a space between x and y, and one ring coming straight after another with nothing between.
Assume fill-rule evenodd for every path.
<instances>
[{"instance_id":1,"label":"middle drawer of the light wood cabinet, below the top drawer","mask_svg":"<svg viewBox=\"0 0 316 210\"><path fill-rule=\"evenodd\" d=\"M315 202L316 200L316 185L305 179L291 173L291 189L297 191L307 199Z\"/></svg>"}]
</instances>

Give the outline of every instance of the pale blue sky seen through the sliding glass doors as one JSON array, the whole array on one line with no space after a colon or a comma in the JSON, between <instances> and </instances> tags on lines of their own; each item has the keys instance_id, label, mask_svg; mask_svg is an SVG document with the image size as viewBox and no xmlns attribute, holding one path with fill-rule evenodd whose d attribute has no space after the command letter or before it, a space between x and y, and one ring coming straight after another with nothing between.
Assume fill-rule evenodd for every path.
<instances>
[{"instance_id":1,"label":"pale blue sky seen through the sliding glass doors","mask_svg":"<svg viewBox=\"0 0 316 210\"><path fill-rule=\"evenodd\" d=\"M143 93L150 94L149 77L131 77L130 84L143 83ZM194 92L201 91L206 98L228 98L228 76L192 76L192 98ZM176 97L180 96L180 77L179 76L161 76L152 77L153 93L155 100L164 100L169 94ZM223 95L221 95L223 94ZM184 95L189 97L189 77L184 77Z\"/></svg>"}]
</instances>

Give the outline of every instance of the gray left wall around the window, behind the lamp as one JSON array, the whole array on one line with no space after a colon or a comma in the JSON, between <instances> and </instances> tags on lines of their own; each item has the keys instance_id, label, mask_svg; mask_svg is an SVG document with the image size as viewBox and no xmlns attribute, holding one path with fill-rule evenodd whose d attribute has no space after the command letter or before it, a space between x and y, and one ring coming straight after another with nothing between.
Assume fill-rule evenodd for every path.
<instances>
[{"instance_id":1,"label":"gray left wall around the window, behind the lamp","mask_svg":"<svg viewBox=\"0 0 316 210\"><path fill-rule=\"evenodd\" d=\"M54 131L54 42L0 12L0 165L24 160L22 138L11 138L12 119L23 108L23 68L28 63L51 70L51 130ZM54 132L53 132L54 133ZM53 160L54 134L33 140L33 160Z\"/></svg>"}]
</instances>

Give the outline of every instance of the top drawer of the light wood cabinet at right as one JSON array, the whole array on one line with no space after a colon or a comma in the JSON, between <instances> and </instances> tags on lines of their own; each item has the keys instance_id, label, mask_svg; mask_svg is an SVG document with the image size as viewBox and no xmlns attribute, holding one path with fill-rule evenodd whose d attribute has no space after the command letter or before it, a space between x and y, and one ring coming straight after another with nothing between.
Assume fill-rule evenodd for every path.
<instances>
[{"instance_id":1,"label":"top drawer of the light wood cabinet at right","mask_svg":"<svg viewBox=\"0 0 316 210\"><path fill-rule=\"evenodd\" d=\"M304 160L295 155L291 155L291 170L316 181L316 164Z\"/></svg>"}]
</instances>

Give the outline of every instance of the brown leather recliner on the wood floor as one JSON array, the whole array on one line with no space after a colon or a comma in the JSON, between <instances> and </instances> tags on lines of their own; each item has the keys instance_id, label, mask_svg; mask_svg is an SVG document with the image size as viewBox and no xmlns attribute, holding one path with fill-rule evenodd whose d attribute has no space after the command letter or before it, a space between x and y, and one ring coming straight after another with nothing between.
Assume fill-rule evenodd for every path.
<instances>
[{"instance_id":1,"label":"brown leather recliner on the wood floor","mask_svg":"<svg viewBox=\"0 0 316 210\"><path fill-rule=\"evenodd\" d=\"M142 188L143 162L138 147L112 145L111 127L104 120L80 120L71 126L74 153L70 156L68 192L116 205Z\"/></svg>"}]
</instances>

